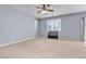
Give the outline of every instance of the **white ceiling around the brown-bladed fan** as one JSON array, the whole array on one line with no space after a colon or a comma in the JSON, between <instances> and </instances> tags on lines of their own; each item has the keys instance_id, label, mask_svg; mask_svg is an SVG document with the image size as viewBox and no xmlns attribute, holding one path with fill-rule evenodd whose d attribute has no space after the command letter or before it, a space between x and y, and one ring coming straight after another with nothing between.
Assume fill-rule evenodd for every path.
<instances>
[{"instance_id":1,"label":"white ceiling around the brown-bladed fan","mask_svg":"<svg viewBox=\"0 0 86 64\"><path fill-rule=\"evenodd\" d=\"M9 7L38 18L86 11L86 4L51 4L54 12L49 13L48 15L42 15L37 13L37 4L10 4Z\"/></svg>"}]
</instances>

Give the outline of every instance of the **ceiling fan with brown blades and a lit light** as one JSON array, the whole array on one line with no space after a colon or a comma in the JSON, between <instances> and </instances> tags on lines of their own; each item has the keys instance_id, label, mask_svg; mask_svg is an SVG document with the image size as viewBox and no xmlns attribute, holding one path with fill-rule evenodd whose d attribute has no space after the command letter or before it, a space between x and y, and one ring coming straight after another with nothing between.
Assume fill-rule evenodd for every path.
<instances>
[{"instance_id":1,"label":"ceiling fan with brown blades and a lit light","mask_svg":"<svg viewBox=\"0 0 86 64\"><path fill-rule=\"evenodd\" d=\"M40 11L37 11L37 13L47 14L48 12L53 12L53 10L50 8L50 4L41 4L41 7L36 7L37 9L40 9Z\"/></svg>"}]
</instances>

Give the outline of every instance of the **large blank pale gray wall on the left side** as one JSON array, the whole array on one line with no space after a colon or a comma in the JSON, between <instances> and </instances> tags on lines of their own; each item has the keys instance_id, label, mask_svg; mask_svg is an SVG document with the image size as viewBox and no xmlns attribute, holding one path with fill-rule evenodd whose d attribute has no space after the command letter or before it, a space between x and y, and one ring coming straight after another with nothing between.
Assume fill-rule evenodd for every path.
<instances>
[{"instance_id":1,"label":"large blank pale gray wall on the left side","mask_svg":"<svg viewBox=\"0 0 86 64\"><path fill-rule=\"evenodd\" d=\"M35 18L0 5L0 44L35 37Z\"/></svg>"}]
</instances>

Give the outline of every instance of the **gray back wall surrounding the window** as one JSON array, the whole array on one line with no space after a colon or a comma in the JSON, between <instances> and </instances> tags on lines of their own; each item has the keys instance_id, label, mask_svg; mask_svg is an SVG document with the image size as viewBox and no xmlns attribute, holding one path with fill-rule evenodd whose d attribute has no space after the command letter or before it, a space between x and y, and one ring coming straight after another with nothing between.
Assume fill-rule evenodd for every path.
<instances>
[{"instance_id":1,"label":"gray back wall surrounding the window","mask_svg":"<svg viewBox=\"0 0 86 64\"><path fill-rule=\"evenodd\" d=\"M81 20L82 17L86 17L86 13L75 13L75 14L67 14L62 16L56 16L52 18L61 18L61 31L59 31L59 38L60 39L81 39L83 36L81 36ZM40 20L40 37L44 38L42 35L47 36L47 29L46 29L46 20ZM50 20L50 18L48 18ZM44 22L45 21L45 22ZM44 27L42 27L44 26Z\"/></svg>"}]
</instances>

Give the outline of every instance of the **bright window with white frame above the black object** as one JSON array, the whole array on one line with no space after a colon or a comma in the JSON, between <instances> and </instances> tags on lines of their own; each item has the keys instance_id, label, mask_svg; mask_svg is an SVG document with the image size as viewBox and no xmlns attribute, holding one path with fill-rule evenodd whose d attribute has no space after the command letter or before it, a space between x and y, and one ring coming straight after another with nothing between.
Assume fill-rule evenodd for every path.
<instances>
[{"instance_id":1,"label":"bright window with white frame above the black object","mask_svg":"<svg viewBox=\"0 0 86 64\"><path fill-rule=\"evenodd\" d=\"M47 20L47 31L61 31L61 18Z\"/></svg>"}]
</instances>

